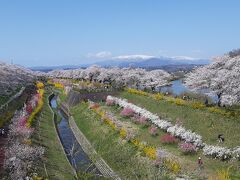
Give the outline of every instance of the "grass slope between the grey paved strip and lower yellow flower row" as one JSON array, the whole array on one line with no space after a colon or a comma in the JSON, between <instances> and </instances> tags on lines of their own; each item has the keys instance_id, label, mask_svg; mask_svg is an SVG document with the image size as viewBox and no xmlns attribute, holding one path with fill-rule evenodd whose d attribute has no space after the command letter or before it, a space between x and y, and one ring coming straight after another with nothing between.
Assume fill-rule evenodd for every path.
<instances>
[{"instance_id":1,"label":"grass slope between the grey paved strip and lower yellow flower row","mask_svg":"<svg viewBox=\"0 0 240 180\"><path fill-rule=\"evenodd\" d=\"M86 103L71 108L79 127L96 151L123 179L154 179L161 177L152 162L140 156L131 144L122 141L119 134L102 124L100 116L88 109ZM167 179L167 176L161 177Z\"/></svg>"}]
</instances>

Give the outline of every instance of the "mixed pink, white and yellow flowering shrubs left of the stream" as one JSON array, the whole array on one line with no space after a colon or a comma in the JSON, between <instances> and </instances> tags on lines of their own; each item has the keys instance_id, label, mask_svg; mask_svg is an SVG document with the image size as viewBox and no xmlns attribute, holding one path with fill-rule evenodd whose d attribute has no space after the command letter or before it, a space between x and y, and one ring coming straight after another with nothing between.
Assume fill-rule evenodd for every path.
<instances>
[{"instance_id":1,"label":"mixed pink, white and yellow flowering shrubs left of the stream","mask_svg":"<svg viewBox=\"0 0 240 180\"><path fill-rule=\"evenodd\" d=\"M44 148L33 145L31 136L35 129L32 120L42 108L43 84L38 83L38 93L17 111L9 125L8 145L4 168L10 179L26 179L36 174L36 163L43 157Z\"/></svg>"}]
</instances>

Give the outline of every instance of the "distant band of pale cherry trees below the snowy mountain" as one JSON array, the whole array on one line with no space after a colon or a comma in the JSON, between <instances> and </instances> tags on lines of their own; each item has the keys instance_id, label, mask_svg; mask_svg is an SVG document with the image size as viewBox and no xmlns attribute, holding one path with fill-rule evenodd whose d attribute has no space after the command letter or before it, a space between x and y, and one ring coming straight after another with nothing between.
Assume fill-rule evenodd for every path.
<instances>
[{"instance_id":1,"label":"distant band of pale cherry trees below the snowy mountain","mask_svg":"<svg viewBox=\"0 0 240 180\"><path fill-rule=\"evenodd\" d=\"M115 87L141 86L146 88L167 85L172 77L163 70L146 71L141 68L102 68L96 65L86 69L55 70L45 75L53 78L71 78L110 83Z\"/></svg>"}]
</instances>

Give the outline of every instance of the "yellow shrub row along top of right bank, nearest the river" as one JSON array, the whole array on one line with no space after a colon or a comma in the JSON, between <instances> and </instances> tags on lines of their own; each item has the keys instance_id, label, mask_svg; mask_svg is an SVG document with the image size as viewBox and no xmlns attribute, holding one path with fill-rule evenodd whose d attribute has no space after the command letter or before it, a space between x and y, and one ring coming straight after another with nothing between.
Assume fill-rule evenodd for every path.
<instances>
[{"instance_id":1,"label":"yellow shrub row along top of right bank, nearest the river","mask_svg":"<svg viewBox=\"0 0 240 180\"><path fill-rule=\"evenodd\" d=\"M180 99L180 98L165 96L161 93L151 94L151 93L147 93L147 92L132 89L132 88L129 88L127 91L131 94L149 96L149 97L152 97L156 100L166 100L166 101L168 101L170 103L173 103L173 104L176 104L178 106L189 106L189 107L192 107L193 109L206 109L209 112L221 114L221 115L228 116L228 117L236 115L236 113L234 113L234 112L231 113L231 112L228 112L224 109L220 109L218 107L207 107L205 104L203 104L201 102L186 101L186 100L183 100L183 99Z\"/></svg>"}]
</instances>

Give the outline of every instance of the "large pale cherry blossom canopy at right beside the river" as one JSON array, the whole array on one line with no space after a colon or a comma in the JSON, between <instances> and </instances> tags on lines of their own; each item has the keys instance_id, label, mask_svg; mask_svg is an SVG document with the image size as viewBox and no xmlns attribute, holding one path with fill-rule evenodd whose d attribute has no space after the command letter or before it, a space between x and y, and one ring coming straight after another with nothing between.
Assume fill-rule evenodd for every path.
<instances>
[{"instance_id":1,"label":"large pale cherry blossom canopy at right beside the river","mask_svg":"<svg viewBox=\"0 0 240 180\"><path fill-rule=\"evenodd\" d=\"M227 54L213 59L213 63L187 74L186 85L192 90L209 89L219 104L240 103L240 55Z\"/></svg>"}]
</instances>

